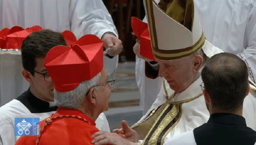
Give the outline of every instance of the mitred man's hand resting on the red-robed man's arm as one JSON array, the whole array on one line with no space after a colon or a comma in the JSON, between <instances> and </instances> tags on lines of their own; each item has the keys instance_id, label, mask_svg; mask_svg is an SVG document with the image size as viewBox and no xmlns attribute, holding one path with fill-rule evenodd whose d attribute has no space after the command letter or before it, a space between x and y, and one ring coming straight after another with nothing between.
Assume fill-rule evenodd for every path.
<instances>
[{"instance_id":1,"label":"mitred man's hand resting on the red-robed man's arm","mask_svg":"<svg viewBox=\"0 0 256 145\"><path fill-rule=\"evenodd\" d=\"M135 145L135 142L129 142L116 133L99 131L94 133L92 137L94 138L92 143L95 145Z\"/></svg>"}]
</instances>

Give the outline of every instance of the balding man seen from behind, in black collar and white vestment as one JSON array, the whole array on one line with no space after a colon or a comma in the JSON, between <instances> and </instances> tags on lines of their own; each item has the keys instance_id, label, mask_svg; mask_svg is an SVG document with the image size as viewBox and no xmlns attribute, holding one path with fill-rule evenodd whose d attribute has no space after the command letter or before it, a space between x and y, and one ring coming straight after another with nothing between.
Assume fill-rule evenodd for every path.
<instances>
[{"instance_id":1,"label":"balding man seen from behind, in black collar and white vestment","mask_svg":"<svg viewBox=\"0 0 256 145\"><path fill-rule=\"evenodd\" d=\"M255 145L256 131L247 127L243 112L249 94L247 66L233 54L211 57L201 85L210 118L207 123L167 140L170 145Z\"/></svg>"}]
</instances>

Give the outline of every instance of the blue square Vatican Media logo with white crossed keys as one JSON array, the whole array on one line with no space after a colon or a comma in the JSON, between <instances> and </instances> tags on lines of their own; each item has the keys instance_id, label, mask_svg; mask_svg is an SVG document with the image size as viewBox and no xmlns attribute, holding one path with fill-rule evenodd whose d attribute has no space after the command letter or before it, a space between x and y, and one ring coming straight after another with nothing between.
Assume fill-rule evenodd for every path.
<instances>
[{"instance_id":1,"label":"blue square Vatican Media logo with white crossed keys","mask_svg":"<svg viewBox=\"0 0 256 145\"><path fill-rule=\"evenodd\" d=\"M15 118L15 136L39 136L39 118Z\"/></svg>"}]
</instances>

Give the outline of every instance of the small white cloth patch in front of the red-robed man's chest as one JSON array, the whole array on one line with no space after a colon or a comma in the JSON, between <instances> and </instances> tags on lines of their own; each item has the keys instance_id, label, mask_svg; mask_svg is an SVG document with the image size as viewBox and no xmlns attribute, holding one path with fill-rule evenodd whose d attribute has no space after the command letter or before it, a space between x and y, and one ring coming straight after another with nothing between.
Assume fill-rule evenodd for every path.
<instances>
[{"instance_id":1,"label":"small white cloth patch in front of the red-robed man's chest","mask_svg":"<svg viewBox=\"0 0 256 145\"><path fill-rule=\"evenodd\" d=\"M96 119L95 123L96 128L98 128L100 131L110 132L108 120L104 113L99 114L99 117Z\"/></svg>"}]
</instances>

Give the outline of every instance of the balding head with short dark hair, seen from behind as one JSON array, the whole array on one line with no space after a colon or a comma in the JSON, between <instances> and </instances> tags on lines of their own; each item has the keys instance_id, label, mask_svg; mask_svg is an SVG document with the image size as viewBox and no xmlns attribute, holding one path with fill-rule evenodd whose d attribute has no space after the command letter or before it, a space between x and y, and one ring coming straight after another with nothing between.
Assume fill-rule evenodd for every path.
<instances>
[{"instance_id":1,"label":"balding head with short dark hair, seen from behind","mask_svg":"<svg viewBox=\"0 0 256 145\"><path fill-rule=\"evenodd\" d=\"M230 53L216 54L208 60L201 75L212 106L226 111L242 106L249 85L243 60Z\"/></svg>"}]
</instances>

